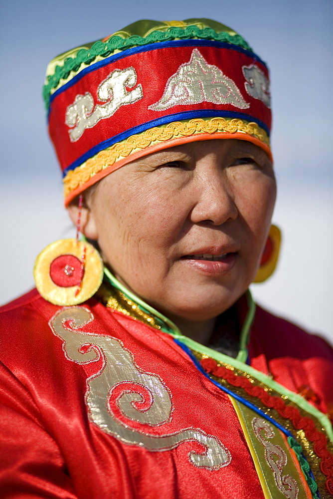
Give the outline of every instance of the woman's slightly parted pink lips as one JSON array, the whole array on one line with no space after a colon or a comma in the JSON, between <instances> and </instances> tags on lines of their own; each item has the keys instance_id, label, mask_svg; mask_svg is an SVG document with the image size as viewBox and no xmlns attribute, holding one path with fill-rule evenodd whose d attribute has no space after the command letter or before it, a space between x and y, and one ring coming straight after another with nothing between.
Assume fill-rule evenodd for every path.
<instances>
[{"instance_id":1,"label":"woman's slightly parted pink lips","mask_svg":"<svg viewBox=\"0 0 333 499\"><path fill-rule=\"evenodd\" d=\"M237 256L237 251L221 254L197 253L184 255L180 260L205 274L225 275L235 265Z\"/></svg>"}]
</instances>

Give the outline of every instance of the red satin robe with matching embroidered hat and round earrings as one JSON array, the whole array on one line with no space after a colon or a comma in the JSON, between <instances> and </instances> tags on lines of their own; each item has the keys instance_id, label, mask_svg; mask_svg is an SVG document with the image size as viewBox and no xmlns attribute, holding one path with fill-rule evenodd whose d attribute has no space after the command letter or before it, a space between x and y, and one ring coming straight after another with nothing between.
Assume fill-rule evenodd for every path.
<instances>
[{"instance_id":1,"label":"red satin robe with matching embroidered hat and round earrings","mask_svg":"<svg viewBox=\"0 0 333 499\"><path fill-rule=\"evenodd\" d=\"M192 140L240 138L270 154L266 65L215 21L140 21L79 47L50 64L44 95L67 204ZM216 341L227 314L212 348L200 345L107 268L101 284L88 243L63 245L38 257L39 292L0 313L1 497L333 496L325 341L247 292L230 312L233 358Z\"/></svg>"}]
</instances>

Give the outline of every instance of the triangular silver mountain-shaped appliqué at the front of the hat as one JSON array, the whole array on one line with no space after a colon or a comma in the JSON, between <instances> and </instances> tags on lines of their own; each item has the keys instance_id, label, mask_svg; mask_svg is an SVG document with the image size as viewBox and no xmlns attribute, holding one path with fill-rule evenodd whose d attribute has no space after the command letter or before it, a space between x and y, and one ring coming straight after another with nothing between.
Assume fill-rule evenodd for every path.
<instances>
[{"instance_id":1,"label":"triangular silver mountain-shaped appliqu\u00e9 at the front of the hat","mask_svg":"<svg viewBox=\"0 0 333 499\"><path fill-rule=\"evenodd\" d=\"M190 61L179 66L167 80L162 98L148 109L164 111L173 106L201 102L231 104L239 109L250 107L236 84L217 66L208 64L194 48Z\"/></svg>"}]
</instances>

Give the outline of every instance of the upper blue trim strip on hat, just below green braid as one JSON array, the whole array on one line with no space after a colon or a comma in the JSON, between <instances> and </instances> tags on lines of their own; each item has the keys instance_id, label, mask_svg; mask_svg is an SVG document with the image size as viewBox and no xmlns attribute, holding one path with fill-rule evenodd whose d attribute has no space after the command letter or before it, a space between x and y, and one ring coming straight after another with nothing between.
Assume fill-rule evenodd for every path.
<instances>
[{"instance_id":1,"label":"upper blue trim strip on hat, just below green braid","mask_svg":"<svg viewBox=\"0 0 333 499\"><path fill-rule=\"evenodd\" d=\"M100 67L107 66L108 64L111 64L112 62L115 62L119 59L123 59L124 57L128 57L129 55L133 54L139 54L141 52L150 52L151 50L158 50L160 48L168 48L168 47L217 47L217 48L229 48L230 50L236 50L236 52L241 52L242 54L246 54L255 61L261 62L265 67L267 65L265 64L264 61L260 59L254 52L251 52L250 50L245 50L245 48L239 47L238 45L233 45L232 43L226 43L226 42L221 42L221 41L214 41L214 40L196 40L196 39L190 39L190 40L172 40L172 41L161 41L158 43L150 43L148 45L143 45L141 47L133 47L129 48L127 50L124 50L122 52L119 52L117 54L111 55L110 57L107 57L106 59L103 59L101 61L95 62L95 64L92 64L91 66L88 66L84 69L82 69L77 75L75 75L70 81L62 85L62 87L58 88L49 99L49 111L50 112L50 105L52 101L55 99L57 95L60 93L64 92L68 88L70 88L72 85L75 85L83 76L85 76L88 73L91 73L95 71L96 69L99 69Z\"/></svg>"}]
</instances>

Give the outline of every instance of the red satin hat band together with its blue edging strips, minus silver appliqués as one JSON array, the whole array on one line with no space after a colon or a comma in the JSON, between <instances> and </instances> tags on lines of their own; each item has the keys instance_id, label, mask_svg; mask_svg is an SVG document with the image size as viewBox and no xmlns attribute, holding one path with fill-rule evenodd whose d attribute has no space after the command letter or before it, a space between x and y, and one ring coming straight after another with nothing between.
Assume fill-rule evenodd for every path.
<instances>
[{"instance_id":1,"label":"red satin hat band together with its blue edging strips, minus silver appliqu\u00e9s","mask_svg":"<svg viewBox=\"0 0 333 499\"><path fill-rule=\"evenodd\" d=\"M162 48L160 46L155 48L154 44L154 50L151 45L148 45L141 48L140 53L128 55L125 51L111 56L101 63L96 63L94 70L92 70L93 67L89 68L87 74L80 73L70 84L66 84L57 91L50 104L48 122L49 133L62 171L74 169L97 152L131 135L181 119L216 116L243 118L249 122L257 122L269 132L270 108L260 99L253 98L246 92L243 66L251 67L256 64L268 78L266 66L252 52L234 45L202 40L175 41L169 42L169 45L165 47L162 44ZM149 109L149 106L158 102L163 96L169 78L182 64L189 63L193 50L198 50L207 64L216 66L225 76L231 78L248 107L201 102L200 99L197 104L170 104L169 108L164 111ZM75 102L77 96L83 96L87 92L91 93L94 105L101 104L98 99L99 86L113 71L127 68L134 68L137 77L135 85L126 88L128 91L133 91L140 86L142 97L129 105L121 105L112 115L99 120L91 128L86 128L80 138L71 141L70 128L66 125L65 119L68 106ZM110 95L110 102L112 98Z\"/></svg>"}]
</instances>

